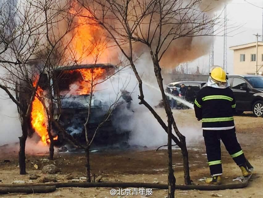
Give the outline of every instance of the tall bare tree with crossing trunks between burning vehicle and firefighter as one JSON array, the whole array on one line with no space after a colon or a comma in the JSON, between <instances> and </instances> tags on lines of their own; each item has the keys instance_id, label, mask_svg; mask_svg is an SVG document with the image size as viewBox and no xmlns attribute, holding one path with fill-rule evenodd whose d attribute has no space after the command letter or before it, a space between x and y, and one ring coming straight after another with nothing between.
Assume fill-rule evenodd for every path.
<instances>
[{"instance_id":1,"label":"tall bare tree with crossing trunks between burning vehicle and firefighter","mask_svg":"<svg viewBox=\"0 0 263 198\"><path fill-rule=\"evenodd\" d=\"M175 178L172 168L171 139L181 148L185 183L190 184L188 151L185 136L176 125L168 101L166 100L160 63L173 43L180 38L213 35L216 19L212 19L199 9L201 0L78 0L94 24L103 27L109 37L127 58L139 82L140 104L145 105L168 134L168 183L169 197L174 197ZM138 47L138 45L140 47ZM164 101L167 124L144 99L143 81L138 73L134 58L136 50L148 51L153 63L153 70ZM138 52L137 52L138 53ZM172 129L176 136L173 135Z\"/></svg>"}]
</instances>

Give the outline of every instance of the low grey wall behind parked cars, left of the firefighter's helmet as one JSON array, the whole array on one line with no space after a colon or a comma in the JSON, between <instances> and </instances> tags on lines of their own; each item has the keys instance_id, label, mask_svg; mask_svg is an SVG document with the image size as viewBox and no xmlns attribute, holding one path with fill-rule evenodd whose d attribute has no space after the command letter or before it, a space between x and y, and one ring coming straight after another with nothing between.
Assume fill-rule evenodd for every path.
<instances>
[{"instance_id":1,"label":"low grey wall behind parked cars, left of the firefighter's helmet","mask_svg":"<svg viewBox=\"0 0 263 198\"><path fill-rule=\"evenodd\" d=\"M176 81L207 81L209 75L196 74L163 74L164 84Z\"/></svg>"}]
</instances>

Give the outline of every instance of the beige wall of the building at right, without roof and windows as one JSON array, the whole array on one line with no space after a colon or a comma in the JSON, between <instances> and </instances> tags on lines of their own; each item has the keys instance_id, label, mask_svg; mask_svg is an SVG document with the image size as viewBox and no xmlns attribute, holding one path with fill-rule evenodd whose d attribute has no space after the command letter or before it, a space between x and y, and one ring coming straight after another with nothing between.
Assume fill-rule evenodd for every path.
<instances>
[{"instance_id":1,"label":"beige wall of the building at right, without roof and windows","mask_svg":"<svg viewBox=\"0 0 263 198\"><path fill-rule=\"evenodd\" d=\"M245 54L245 61L240 62L240 54ZM255 74L256 61L251 61L251 54L256 54L256 46L234 50L234 74ZM258 45L258 69L263 64L262 54L263 46ZM261 67L260 71L263 73L263 67Z\"/></svg>"}]
</instances>

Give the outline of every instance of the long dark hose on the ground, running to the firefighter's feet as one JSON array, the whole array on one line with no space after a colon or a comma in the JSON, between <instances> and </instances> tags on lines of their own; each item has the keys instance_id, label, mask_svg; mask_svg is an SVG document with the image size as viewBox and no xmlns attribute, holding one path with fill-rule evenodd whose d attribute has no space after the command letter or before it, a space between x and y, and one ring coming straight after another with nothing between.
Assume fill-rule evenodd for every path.
<instances>
[{"instance_id":1,"label":"long dark hose on the ground, running to the firefighter's feet","mask_svg":"<svg viewBox=\"0 0 263 198\"><path fill-rule=\"evenodd\" d=\"M242 183L236 184L223 184L223 185L175 185L175 189L178 190L225 190L225 189L235 189L244 188L248 186L248 179L245 178ZM117 183L35 183L35 184L1 184L1 187L13 187L13 188L35 188L35 187L53 187L63 188L63 187L80 187L80 188L93 188L93 187L109 187L109 188L128 188L128 187L144 187L144 188L156 188L156 189L168 189L167 184L158 183L130 183L130 182L117 182Z\"/></svg>"}]
</instances>

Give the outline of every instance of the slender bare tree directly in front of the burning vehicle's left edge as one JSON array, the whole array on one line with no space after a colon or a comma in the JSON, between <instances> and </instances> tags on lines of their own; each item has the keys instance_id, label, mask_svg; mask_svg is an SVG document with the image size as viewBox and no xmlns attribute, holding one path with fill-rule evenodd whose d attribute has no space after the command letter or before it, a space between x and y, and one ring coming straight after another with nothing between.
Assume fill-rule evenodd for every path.
<instances>
[{"instance_id":1,"label":"slender bare tree directly in front of the burning vehicle's left edge","mask_svg":"<svg viewBox=\"0 0 263 198\"><path fill-rule=\"evenodd\" d=\"M54 156L54 134L52 134L52 124L55 122L57 125L59 123L54 119L54 96L53 96L53 84L52 80L54 80L54 71L60 65L71 64L72 61L69 61L68 58L68 48L71 45L72 39L68 39L68 35L74 30L75 24L74 19L70 15L69 11L73 8L74 3L70 1L39 1L35 0L33 5L36 9L38 9L43 14L44 26L45 30L45 42L43 43L43 48L39 52L38 64L40 64L40 68L44 67L44 74L48 83L45 90L45 95L37 92L37 97L40 99L42 105L44 106L45 113L47 116L47 132L48 139L46 139L49 143L49 158L53 160ZM63 27L63 28L60 28ZM42 77L42 76L40 76ZM39 78L40 79L40 78ZM38 80L39 80L38 79ZM59 97L57 98L59 100ZM47 102L48 101L48 102ZM66 134L66 131L63 130L63 127L59 127L61 132L63 133L65 139L72 140L71 142L76 145L77 141L75 141L72 137Z\"/></svg>"}]
</instances>

